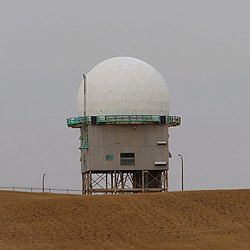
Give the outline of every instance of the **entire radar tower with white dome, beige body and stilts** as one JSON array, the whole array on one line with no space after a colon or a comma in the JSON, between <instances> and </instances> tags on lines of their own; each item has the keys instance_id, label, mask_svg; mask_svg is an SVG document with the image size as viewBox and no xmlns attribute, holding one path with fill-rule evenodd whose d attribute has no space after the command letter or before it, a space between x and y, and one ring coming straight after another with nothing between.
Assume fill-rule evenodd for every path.
<instances>
[{"instance_id":1,"label":"entire radar tower with white dome, beige body and stilts","mask_svg":"<svg viewBox=\"0 0 250 250\"><path fill-rule=\"evenodd\" d=\"M166 82L151 65L115 57L95 66L80 85L83 194L168 190L168 128L180 125L170 116Z\"/></svg>"}]
</instances>

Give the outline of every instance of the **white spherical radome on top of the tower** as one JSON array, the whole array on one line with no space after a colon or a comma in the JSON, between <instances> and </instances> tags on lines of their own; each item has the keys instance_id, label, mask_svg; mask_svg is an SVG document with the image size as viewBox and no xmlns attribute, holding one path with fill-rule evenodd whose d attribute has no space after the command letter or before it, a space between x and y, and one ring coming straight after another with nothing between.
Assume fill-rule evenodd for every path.
<instances>
[{"instance_id":1,"label":"white spherical radome on top of the tower","mask_svg":"<svg viewBox=\"0 0 250 250\"><path fill-rule=\"evenodd\" d=\"M169 115L166 82L150 64L132 57L114 57L86 75L86 113L99 115ZM84 84L77 95L79 116L84 112Z\"/></svg>"}]
</instances>

